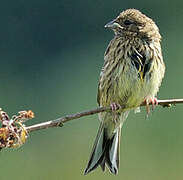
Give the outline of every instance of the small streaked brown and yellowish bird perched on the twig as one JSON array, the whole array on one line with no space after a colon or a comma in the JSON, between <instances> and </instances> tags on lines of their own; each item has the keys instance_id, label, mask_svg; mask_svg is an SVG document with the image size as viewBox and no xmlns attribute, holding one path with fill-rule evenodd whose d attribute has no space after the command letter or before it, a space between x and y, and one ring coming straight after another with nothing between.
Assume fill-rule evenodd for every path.
<instances>
[{"instance_id":1,"label":"small streaked brown and yellowish bird perched on the twig","mask_svg":"<svg viewBox=\"0 0 183 180\"><path fill-rule=\"evenodd\" d=\"M84 174L101 166L112 174L119 169L121 128L131 110L145 102L157 104L165 74L161 35L155 22L137 9L122 11L105 25L114 32L105 54L99 84L100 126ZM149 109L149 108L147 108Z\"/></svg>"}]
</instances>

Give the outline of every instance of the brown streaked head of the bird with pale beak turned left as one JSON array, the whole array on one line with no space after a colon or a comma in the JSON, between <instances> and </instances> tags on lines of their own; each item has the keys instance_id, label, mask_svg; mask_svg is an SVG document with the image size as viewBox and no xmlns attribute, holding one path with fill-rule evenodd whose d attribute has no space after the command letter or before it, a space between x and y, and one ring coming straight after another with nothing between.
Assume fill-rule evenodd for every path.
<instances>
[{"instance_id":1,"label":"brown streaked head of the bird with pale beak turned left","mask_svg":"<svg viewBox=\"0 0 183 180\"><path fill-rule=\"evenodd\" d=\"M118 36L137 36L147 40L161 39L159 29L154 21L136 9L127 9L121 12L105 27L112 29Z\"/></svg>"}]
</instances>

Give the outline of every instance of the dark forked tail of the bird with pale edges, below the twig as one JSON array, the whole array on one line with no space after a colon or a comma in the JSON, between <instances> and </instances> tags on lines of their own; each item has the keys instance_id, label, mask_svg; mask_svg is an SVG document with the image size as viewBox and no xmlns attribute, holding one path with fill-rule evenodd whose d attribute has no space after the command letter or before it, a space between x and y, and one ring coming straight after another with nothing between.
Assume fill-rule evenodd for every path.
<instances>
[{"instance_id":1,"label":"dark forked tail of the bird with pale edges, below the twig","mask_svg":"<svg viewBox=\"0 0 183 180\"><path fill-rule=\"evenodd\" d=\"M109 129L101 122L87 168L84 172L85 175L99 165L104 171L105 164L111 173L118 173L121 126L115 129L111 137L109 137L108 131Z\"/></svg>"}]
</instances>

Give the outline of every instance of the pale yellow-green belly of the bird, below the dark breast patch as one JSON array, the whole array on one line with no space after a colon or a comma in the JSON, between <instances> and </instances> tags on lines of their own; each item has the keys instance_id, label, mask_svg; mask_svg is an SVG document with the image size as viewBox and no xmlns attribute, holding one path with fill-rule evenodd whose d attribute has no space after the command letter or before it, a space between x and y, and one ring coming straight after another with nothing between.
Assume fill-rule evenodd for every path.
<instances>
[{"instance_id":1,"label":"pale yellow-green belly of the bird, below the dark breast patch","mask_svg":"<svg viewBox=\"0 0 183 180\"><path fill-rule=\"evenodd\" d=\"M154 68L151 73L146 73L144 78L141 78L130 60L126 59L125 65L116 67L109 78L103 78L103 86L99 86L100 105L118 103L129 109L140 106L145 99L153 98L164 74L162 66Z\"/></svg>"}]
</instances>

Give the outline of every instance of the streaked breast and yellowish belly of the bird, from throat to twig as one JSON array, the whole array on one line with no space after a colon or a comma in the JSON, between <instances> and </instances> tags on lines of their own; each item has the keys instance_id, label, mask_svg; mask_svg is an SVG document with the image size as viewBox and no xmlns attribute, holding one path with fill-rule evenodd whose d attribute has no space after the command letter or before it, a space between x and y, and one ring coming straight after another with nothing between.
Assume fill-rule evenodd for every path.
<instances>
[{"instance_id":1,"label":"streaked breast and yellowish belly of the bird, from throat to twig","mask_svg":"<svg viewBox=\"0 0 183 180\"><path fill-rule=\"evenodd\" d=\"M137 43L133 45L130 41L117 40L109 44L99 81L100 105L115 102L131 108L156 95L163 66L157 64L157 57L151 58L156 54L152 48L140 47Z\"/></svg>"}]
</instances>

